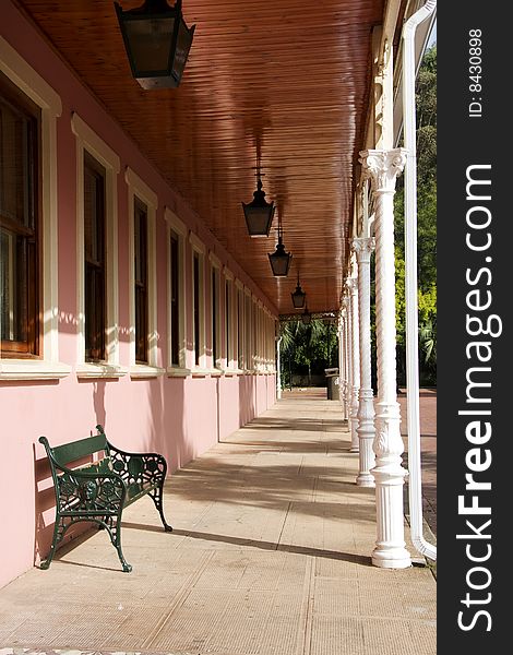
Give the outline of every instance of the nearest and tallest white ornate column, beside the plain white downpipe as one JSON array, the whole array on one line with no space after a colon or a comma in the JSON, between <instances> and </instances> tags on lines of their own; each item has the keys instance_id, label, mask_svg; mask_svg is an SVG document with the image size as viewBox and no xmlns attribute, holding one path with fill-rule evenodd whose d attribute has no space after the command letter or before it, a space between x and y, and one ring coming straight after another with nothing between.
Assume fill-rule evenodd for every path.
<instances>
[{"instance_id":1,"label":"nearest and tallest white ornate column, beside the plain white downpipe","mask_svg":"<svg viewBox=\"0 0 513 655\"><path fill-rule=\"evenodd\" d=\"M404 540L403 487L406 471L396 395L395 361L395 180L404 168L404 148L368 150L360 153L363 175L371 180L375 206L375 341L378 350L378 402L374 453L378 539L372 563L385 569L411 564Z\"/></svg>"}]
</instances>

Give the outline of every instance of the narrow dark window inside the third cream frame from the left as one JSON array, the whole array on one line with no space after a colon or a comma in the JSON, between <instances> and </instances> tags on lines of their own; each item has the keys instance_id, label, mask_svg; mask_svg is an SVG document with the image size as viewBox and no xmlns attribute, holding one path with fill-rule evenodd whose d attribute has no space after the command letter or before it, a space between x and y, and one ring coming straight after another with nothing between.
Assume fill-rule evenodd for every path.
<instances>
[{"instance_id":1,"label":"narrow dark window inside the third cream frame from the left","mask_svg":"<svg viewBox=\"0 0 513 655\"><path fill-rule=\"evenodd\" d=\"M139 198L133 207L135 362L147 364L147 207Z\"/></svg>"}]
</instances>

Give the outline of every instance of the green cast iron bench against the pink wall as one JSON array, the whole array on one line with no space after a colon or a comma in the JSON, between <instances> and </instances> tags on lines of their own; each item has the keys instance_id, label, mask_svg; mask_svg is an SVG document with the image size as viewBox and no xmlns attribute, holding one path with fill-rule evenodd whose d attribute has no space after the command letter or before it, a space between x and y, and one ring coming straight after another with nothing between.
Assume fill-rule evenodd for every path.
<instances>
[{"instance_id":1,"label":"green cast iron bench against the pink wall","mask_svg":"<svg viewBox=\"0 0 513 655\"><path fill-rule=\"evenodd\" d=\"M51 448L46 437L39 442L46 449L56 491L56 524L50 551L40 563L48 569L56 548L65 531L81 521L95 522L107 529L112 546L118 551L123 571L130 573L121 549L121 514L126 507L146 493L160 514L164 529L171 532L163 509L163 486L167 463L157 453L128 453L112 445L102 426L97 434ZM76 468L69 465L103 453L98 461Z\"/></svg>"}]
</instances>

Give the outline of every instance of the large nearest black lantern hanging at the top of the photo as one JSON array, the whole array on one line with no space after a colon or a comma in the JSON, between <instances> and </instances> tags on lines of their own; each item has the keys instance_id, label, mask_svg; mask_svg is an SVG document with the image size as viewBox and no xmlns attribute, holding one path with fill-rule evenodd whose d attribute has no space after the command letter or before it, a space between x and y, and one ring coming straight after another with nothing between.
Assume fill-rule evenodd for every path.
<instances>
[{"instance_id":1,"label":"large nearest black lantern hanging at the top of the photo","mask_svg":"<svg viewBox=\"0 0 513 655\"><path fill-rule=\"evenodd\" d=\"M122 11L115 2L132 75L143 88L176 88L192 44L181 13L181 0L145 0L142 7Z\"/></svg>"}]
</instances>

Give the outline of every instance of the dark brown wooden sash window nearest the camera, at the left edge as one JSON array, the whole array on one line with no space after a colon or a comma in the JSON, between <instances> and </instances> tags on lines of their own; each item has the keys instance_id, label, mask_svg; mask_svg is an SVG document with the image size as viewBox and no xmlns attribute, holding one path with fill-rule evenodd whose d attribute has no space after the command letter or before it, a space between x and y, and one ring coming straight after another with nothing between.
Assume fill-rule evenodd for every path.
<instances>
[{"instance_id":1,"label":"dark brown wooden sash window nearest the camera, at the left edge","mask_svg":"<svg viewBox=\"0 0 513 655\"><path fill-rule=\"evenodd\" d=\"M40 110L0 74L0 329L3 357L40 355Z\"/></svg>"}]
</instances>

